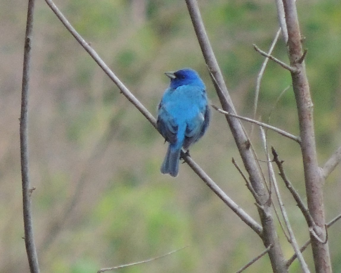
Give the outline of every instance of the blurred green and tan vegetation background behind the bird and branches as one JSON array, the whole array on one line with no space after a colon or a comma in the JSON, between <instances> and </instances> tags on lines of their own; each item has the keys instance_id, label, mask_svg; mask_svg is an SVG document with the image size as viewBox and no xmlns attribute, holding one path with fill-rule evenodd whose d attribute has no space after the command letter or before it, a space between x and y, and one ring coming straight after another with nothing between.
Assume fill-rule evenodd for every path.
<instances>
[{"instance_id":1,"label":"blurred green and tan vegetation background behind the bird and branches","mask_svg":"<svg viewBox=\"0 0 341 273\"><path fill-rule=\"evenodd\" d=\"M151 111L168 85L164 71L196 69L212 104L210 82L182 0L59 0L57 6L121 81ZM199 1L207 33L239 114L252 115L263 57L278 30L274 1ZM306 66L315 106L319 161L341 139L341 3L298 1ZM0 2L0 272L28 272L21 210L20 89L26 1ZM280 39L275 52L287 62ZM235 272L263 251L257 235L183 164L176 179L161 175L162 137L125 99L66 31L44 1L36 2L29 100L30 176L34 235L42 272L97 272L100 268L175 254L116 272ZM269 62L257 118L298 134L290 74ZM214 111L214 110L213 110ZM250 131L250 124L245 123ZM252 141L261 159L259 132ZM305 197L299 146L274 132L287 176ZM244 210L259 221L238 171L242 166L226 120L214 112L191 156ZM265 165L263 165L265 167ZM341 211L340 166L325 185L327 221ZM265 170L265 169L264 169ZM280 179L279 179L280 182ZM285 206L303 244L307 226L291 196ZM333 269L341 272L341 224L329 231ZM281 231L285 257L293 250ZM311 249L304 257L313 270ZM245 272L270 272L267 256ZM294 262L290 272L298 272Z\"/></svg>"}]
</instances>

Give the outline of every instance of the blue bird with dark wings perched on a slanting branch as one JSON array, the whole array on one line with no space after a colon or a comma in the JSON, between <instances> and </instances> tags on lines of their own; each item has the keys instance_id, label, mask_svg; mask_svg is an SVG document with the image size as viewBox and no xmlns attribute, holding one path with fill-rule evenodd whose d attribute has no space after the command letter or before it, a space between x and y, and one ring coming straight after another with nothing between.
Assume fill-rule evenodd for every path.
<instances>
[{"instance_id":1,"label":"blue bird with dark wings perched on a slanting branch","mask_svg":"<svg viewBox=\"0 0 341 273\"><path fill-rule=\"evenodd\" d=\"M158 106L157 127L169 142L161 173L175 177L179 172L180 152L201 138L209 123L210 110L206 87L196 71L184 68L165 73L170 85Z\"/></svg>"}]
</instances>

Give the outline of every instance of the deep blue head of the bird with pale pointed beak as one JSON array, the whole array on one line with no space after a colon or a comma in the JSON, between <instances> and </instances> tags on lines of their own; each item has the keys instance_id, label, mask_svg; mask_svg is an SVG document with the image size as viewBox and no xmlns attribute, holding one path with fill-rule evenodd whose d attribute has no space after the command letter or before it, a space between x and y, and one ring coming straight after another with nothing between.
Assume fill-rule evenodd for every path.
<instances>
[{"instance_id":1,"label":"deep blue head of the bird with pale pointed beak","mask_svg":"<svg viewBox=\"0 0 341 273\"><path fill-rule=\"evenodd\" d=\"M170 88L177 88L182 85L200 86L205 89L205 85L198 73L190 68L183 68L175 72L165 72L170 78Z\"/></svg>"}]
</instances>

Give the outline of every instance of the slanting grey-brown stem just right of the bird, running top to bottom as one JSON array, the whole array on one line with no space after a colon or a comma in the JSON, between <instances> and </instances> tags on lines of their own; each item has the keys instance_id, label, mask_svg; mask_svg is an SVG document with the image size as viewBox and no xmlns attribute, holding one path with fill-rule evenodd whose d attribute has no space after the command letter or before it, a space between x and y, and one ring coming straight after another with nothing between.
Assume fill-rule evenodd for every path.
<instances>
[{"instance_id":1,"label":"slanting grey-brown stem just right of the bird, running top to bottom","mask_svg":"<svg viewBox=\"0 0 341 273\"><path fill-rule=\"evenodd\" d=\"M235 108L228 94L222 73L220 71L213 49L210 45L200 10L196 0L186 0L187 9L189 11L194 31L196 33L199 45L201 47L205 62L211 74L212 82L216 89L220 103L224 111L235 114ZM247 170L250 183L257 193L257 203L262 204L258 207L263 233L261 238L265 247L272 245L269 250L269 258L273 272L287 272L284 261L283 252L278 240L276 226L273 220L271 211L271 202L265 188L265 178L261 167L258 163L255 151L250 143L250 140L237 118L226 116L227 123L231 129L232 135L236 142L240 156L243 160L244 167Z\"/></svg>"}]
</instances>

